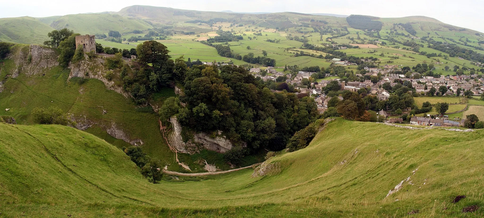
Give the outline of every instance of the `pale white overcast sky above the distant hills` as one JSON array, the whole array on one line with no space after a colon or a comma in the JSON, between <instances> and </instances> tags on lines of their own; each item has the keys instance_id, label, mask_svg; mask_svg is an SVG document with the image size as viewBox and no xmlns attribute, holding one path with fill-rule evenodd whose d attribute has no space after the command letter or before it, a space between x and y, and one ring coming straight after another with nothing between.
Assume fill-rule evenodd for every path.
<instances>
[{"instance_id":1,"label":"pale white overcast sky above the distant hills","mask_svg":"<svg viewBox=\"0 0 484 218\"><path fill-rule=\"evenodd\" d=\"M80 3L79 3L80 2ZM86 7L82 7L86 2ZM197 11L299 12L379 17L428 16L444 23L484 32L483 0L0 0L0 17L119 11L138 5Z\"/></svg>"}]
</instances>

